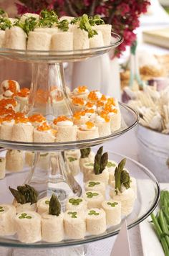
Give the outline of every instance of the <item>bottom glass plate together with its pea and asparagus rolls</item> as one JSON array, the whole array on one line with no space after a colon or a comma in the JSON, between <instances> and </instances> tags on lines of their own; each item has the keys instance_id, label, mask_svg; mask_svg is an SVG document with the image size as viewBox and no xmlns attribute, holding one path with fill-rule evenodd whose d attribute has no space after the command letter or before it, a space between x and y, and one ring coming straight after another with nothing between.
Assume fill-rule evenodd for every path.
<instances>
[{"instance_id":1,"label":"bottom glass plate together with its pea and asparagus rolls","mask_svg":"<svg viewBox=\"0 0 169 256\"><path fill-rule=\"evenodd\" d=\"M127 219L128 228L143 221L158 204L160 188L157 180L148 169L134 160L116 153L108 152L107 154L104 150L101 151L102 147L90 151L88 160L87 157L82 158L84 151L82 154L79 150L66 152L67 160L70 159L70 154L78 157L78 173L74 177L82 186L82 195L80 197L69 195L65 204L62 204L61 200L58 203L56 198L52 199L54 196L51 194L39 197L33 186L26 184L21 186L25 179L25 172L7 174L6 178L0 180L1 186L6 189L5 198L4 194L1 194L1 207L4 207L1 209L6 210L5 207L9 206L10 212L13 213L10 216L16 223L16 228L11 230L12 234L6 233L0 237L0 244L18 247L64 247L84 244L117 234L124 219ZM98 181L102 179L96 177L100 174L91 177L93 171L91 168L94 168L91 163L96 165L100 152L108 158L104 163L107 163L105 173L108 173L109 179L105 178L105 181ZM87 181L84 182L84 166L87 163L90 170L88 170L88 178L85 178ZM124 170L123 174L121 170ZM127 175L130 184L125 182L124 174ZM108 184L105 185L107 182ZM143 190L144 183L147 186ZM117 195L113 193L115 189L118 191ZM121 192L119 189L122 189ZM29 195L26 198L25 193ZM148 193L150 196L146 196ZM52 200L55 203L51 203L49 213ZM57 208L52 207L52 204ZM55 223L57 229L53 228ZM34 228L29 229L30 233L25 234L27 225ZM34 235L31 234L32 232Z\"/></svg>"}]
</instances>

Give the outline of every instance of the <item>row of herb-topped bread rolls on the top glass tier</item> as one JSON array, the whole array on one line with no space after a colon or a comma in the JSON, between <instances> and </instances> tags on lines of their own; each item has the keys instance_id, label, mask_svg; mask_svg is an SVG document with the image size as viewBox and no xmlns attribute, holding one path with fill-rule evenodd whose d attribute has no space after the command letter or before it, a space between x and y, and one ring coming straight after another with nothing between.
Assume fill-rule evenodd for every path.
<instances>
[{"instance_id":1,"label":"row of herb-topped bread rolls on the top glass tier","mask_svg":"<svg viewBox=\"0 0 169 256\"><path fill-rule=\"evenodd\" d=\"M23 14L11 22L0 18L2 48L16 50L68 51L110 45L112 26L99 15L88 17L58 17L56 12L42 10Z\"/></svg>"}]
</instances>

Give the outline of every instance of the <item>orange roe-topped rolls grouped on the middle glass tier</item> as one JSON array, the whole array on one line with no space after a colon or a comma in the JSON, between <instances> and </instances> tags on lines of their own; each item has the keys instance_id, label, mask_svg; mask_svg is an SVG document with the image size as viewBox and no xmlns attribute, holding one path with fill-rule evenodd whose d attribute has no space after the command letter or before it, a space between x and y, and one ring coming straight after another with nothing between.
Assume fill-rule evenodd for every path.
<instances>
[{"instance_id":1,"label":"orange roe-topped rolls grouped on the middle glass tier","mask_svg":"<svg viewBox=\"0 0 169 256\"><path fill-rule=\"evenodd\" d=\"M20 89L19 83L11 80L2 81L0 88L2 92L0 100L1 140L16 142L91 140L110 135L119 130L121 126L121 114L117 100L103 95L100 91L89 91L87 86L78 86L77 90L69 92L69 100L72 101L75 110L73 116L56 116L50 122L40 113L24 114L27 99L23 106L21 96L27 98L28 88ZM59 89L52 89L52 95L54 92L57 99ZM74 98L74 94L78 97ZM84 95L85 104L80 106L80 111L76 110L77 103L84 101L80 96L84 97Z\"/></svg>"}]
</instances>

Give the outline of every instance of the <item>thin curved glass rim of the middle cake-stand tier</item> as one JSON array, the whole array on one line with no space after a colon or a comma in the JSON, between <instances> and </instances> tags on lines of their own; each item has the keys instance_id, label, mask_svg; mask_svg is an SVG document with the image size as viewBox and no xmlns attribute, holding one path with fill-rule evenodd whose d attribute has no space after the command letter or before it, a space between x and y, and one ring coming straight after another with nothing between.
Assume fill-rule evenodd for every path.
<instances>
[{"instance_id":1,"label":"thin curved glass rim of the middle cake-stand tier","mask_svg":"<svg viewBox=\"0 0 169 256\"><path fill-rule=\"evenodd\" d=\"M70 141L70 142L48 142L48 143L39 143L39 142L14 142L11 140L0 140L0 146L1 147L9 147L9 148L17 148L17 149L24 149L24 150L30 150L30 151L63 151L67 150L69 148L82 148L87 146L95 146L102 144L103 142L106 142L108 140L112 140L115 137L118 137L125 132L128 132L130 129L135 127L135 125L139 121L139 116L137 114L137 111L135 109L132 109L130 106L127 106L126 104L120 103L120 106L127 109L127 111L132 112L132 114L135 115L135 122L133 122L130 127L127 127L125 129L120 130L119 132L112 133L110 135L107 135L105 137L98 137L92 140L76 140L76 141ZM84 144L86 146L84 146ZM34 147L34 148L33 148ZM56 148L57 147L57 148Z\"/></svg>"}]
</instances>

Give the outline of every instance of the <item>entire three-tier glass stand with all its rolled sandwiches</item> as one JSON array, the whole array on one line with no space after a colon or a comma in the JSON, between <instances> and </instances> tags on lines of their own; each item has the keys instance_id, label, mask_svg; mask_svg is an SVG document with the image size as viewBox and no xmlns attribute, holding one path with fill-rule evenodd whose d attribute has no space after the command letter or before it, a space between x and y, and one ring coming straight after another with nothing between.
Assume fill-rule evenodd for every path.
<instances>
[{"instance_id":1,"label":"entire three-tier glass stand with all its rolled sandwiches","mask_svg":"<svg viewBox=\"0 0 169 256\"><path fill-rule=\"evenodd\" d=\"M96 241L117 234L126 218L134 227L158 204L158 182L146 168L90 149L134 127L137 112L86 85L69 91L64 81L64 62L97 57L121 42L98 15L42 10L10 19L1 12L0 56L32 63L30 89L10 78L0 86L0 145L8 149L0 158L1 245ZM149 182L148 200L140 180Z\"/></svg>"}]
</instances>

